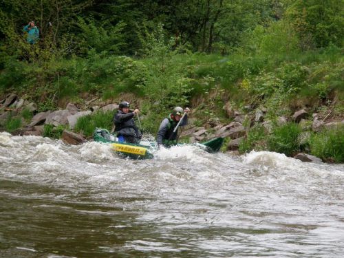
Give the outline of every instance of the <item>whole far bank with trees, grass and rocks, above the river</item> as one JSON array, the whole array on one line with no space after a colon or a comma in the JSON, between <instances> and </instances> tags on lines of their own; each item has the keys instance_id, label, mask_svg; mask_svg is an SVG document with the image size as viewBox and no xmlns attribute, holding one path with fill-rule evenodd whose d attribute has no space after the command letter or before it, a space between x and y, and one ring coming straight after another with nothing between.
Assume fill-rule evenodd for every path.
<instances>
[{"instance_id":1,"label":"whole far bank with trees, grass and rocks, above the river","mask_svg":"<svg viewBox=\"0 0 344 258\"><path fill-rule=\"evenodd\" d=\"M173 107L190 107L180 142L222 136L223 151L344 162L340 4L184 1L150 10L133 1L127 10L114 1L117 10L72 2L78 14L61 1L63 16L42 2L65 26L38 16L42 37L32 45L19 32L32 17L13 18L21 1L1 7L0 131L63 139L72 131L80 136L72 142L83 142L95 127L111 130L116 104L127 100L154 136ZM43 13L31 7L25 15ZM116 13L125 14L110 21Z\"/></svg>"}]
</instances>

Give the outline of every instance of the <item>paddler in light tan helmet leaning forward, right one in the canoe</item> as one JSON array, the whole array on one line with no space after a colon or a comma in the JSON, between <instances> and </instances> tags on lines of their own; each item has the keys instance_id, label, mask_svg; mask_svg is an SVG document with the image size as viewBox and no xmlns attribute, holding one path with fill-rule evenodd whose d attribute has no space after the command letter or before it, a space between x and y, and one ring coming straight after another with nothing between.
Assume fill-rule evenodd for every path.
<instances>
[{"instance_id":1,"label":"paddler in light tan helmet leaning forward, right one in the canoe","mask_svg":"<svg viewBox=\"0 0 344 258\"><path fill-rule=\"evenodd\" d=\"M186 113L183 116L183 113ZM188 124L188 115L190 112L189 107L186 107L186 109L182 109L182 107L175 107L171 114L167 118L164 118L162 120L158 136L157 136L157 142L158 146L164 145L164 147L169 147L171 145L177 144L177 136L178 136L178 130L175 132L174 129L178 125L178 122L180 122L179 126L184 126ZM180 121L182 119L182 121Z\"/></svg>"}]
</instances>

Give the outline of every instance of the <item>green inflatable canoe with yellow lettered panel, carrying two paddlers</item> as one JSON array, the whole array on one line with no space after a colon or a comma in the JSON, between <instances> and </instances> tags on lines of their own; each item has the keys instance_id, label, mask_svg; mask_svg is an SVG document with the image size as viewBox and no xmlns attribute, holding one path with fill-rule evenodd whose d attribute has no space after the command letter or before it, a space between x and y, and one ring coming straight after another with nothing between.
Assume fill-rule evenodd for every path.
<instances>
[{"instance_id":1,"label":"green inflatable canoe with yellow lettered panel, carrying two paddlers","mask_svg":"<svg viewBox=\"0 0 344 258\"><path fill-rule=\"evenodd\" d=\"M121 155L133 159L147 159L153 158L153 151L157 149L155 142L141 141L140 144L133 144L129 142L118 142L118 138L109 133L107 129L97 128L94 131L93 138L95 142L105 142L112 145L112 149ZM221 149L224 143L224 138L214 138L207 142L195 144L197 147L204 149L210 153L214 153Z\"/></svg>"}]
</instances>

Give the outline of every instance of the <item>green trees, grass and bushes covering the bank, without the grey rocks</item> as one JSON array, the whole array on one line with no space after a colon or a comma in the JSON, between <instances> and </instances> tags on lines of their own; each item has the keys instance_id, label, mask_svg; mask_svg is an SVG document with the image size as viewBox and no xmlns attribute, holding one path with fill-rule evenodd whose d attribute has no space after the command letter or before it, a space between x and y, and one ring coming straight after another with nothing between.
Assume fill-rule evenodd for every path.
<instances>
[{"instance_id":1,"label":"green trees, grass and bushes covering the bank, without the grey rocks","mask_svg":"<svg viewBox=\"0 0 344 258\"><path fill-rule=\"evenodd\" d=\"M175 105L197 108L199 126L230 122L226 103L265 107L271 138L252 127L239 151L292 155L301 148L299 127L278 127L278 116L301 107L343 116L343 6L343 0L0 0L0 95L17 92L39 111L133 96L142 127L152 133ZM30 45L22 30L32 20L40 39ZM76 130L90 136L100 125L110 129L111 114L80 120ZM6 123L8 131L20 126L19 119ZM61 132L45 128L45 136ZM316 150L316 138L310 146L328 157Z\"/></svg>"}]
</instances>

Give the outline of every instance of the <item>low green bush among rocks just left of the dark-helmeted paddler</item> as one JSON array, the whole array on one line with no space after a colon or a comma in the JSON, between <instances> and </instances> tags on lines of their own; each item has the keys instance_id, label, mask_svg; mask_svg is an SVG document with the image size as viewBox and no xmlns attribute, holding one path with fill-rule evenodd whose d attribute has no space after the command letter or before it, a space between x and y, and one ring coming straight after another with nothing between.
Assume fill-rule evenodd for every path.
<instances>
[{"instance_id":1,"label":"low green bush among rocks just left of the dark-helmeted paddler","mask_svg":"<svg viewBox=\"0 0 344 258\"><path fill-rule=\"evenodd\" d=\"M78 118L74 130L82 132L86 137L92 136L96 127L111 131L113 117L114 111L97 111L89 116Z\"/></svg>"}]
</instances>

